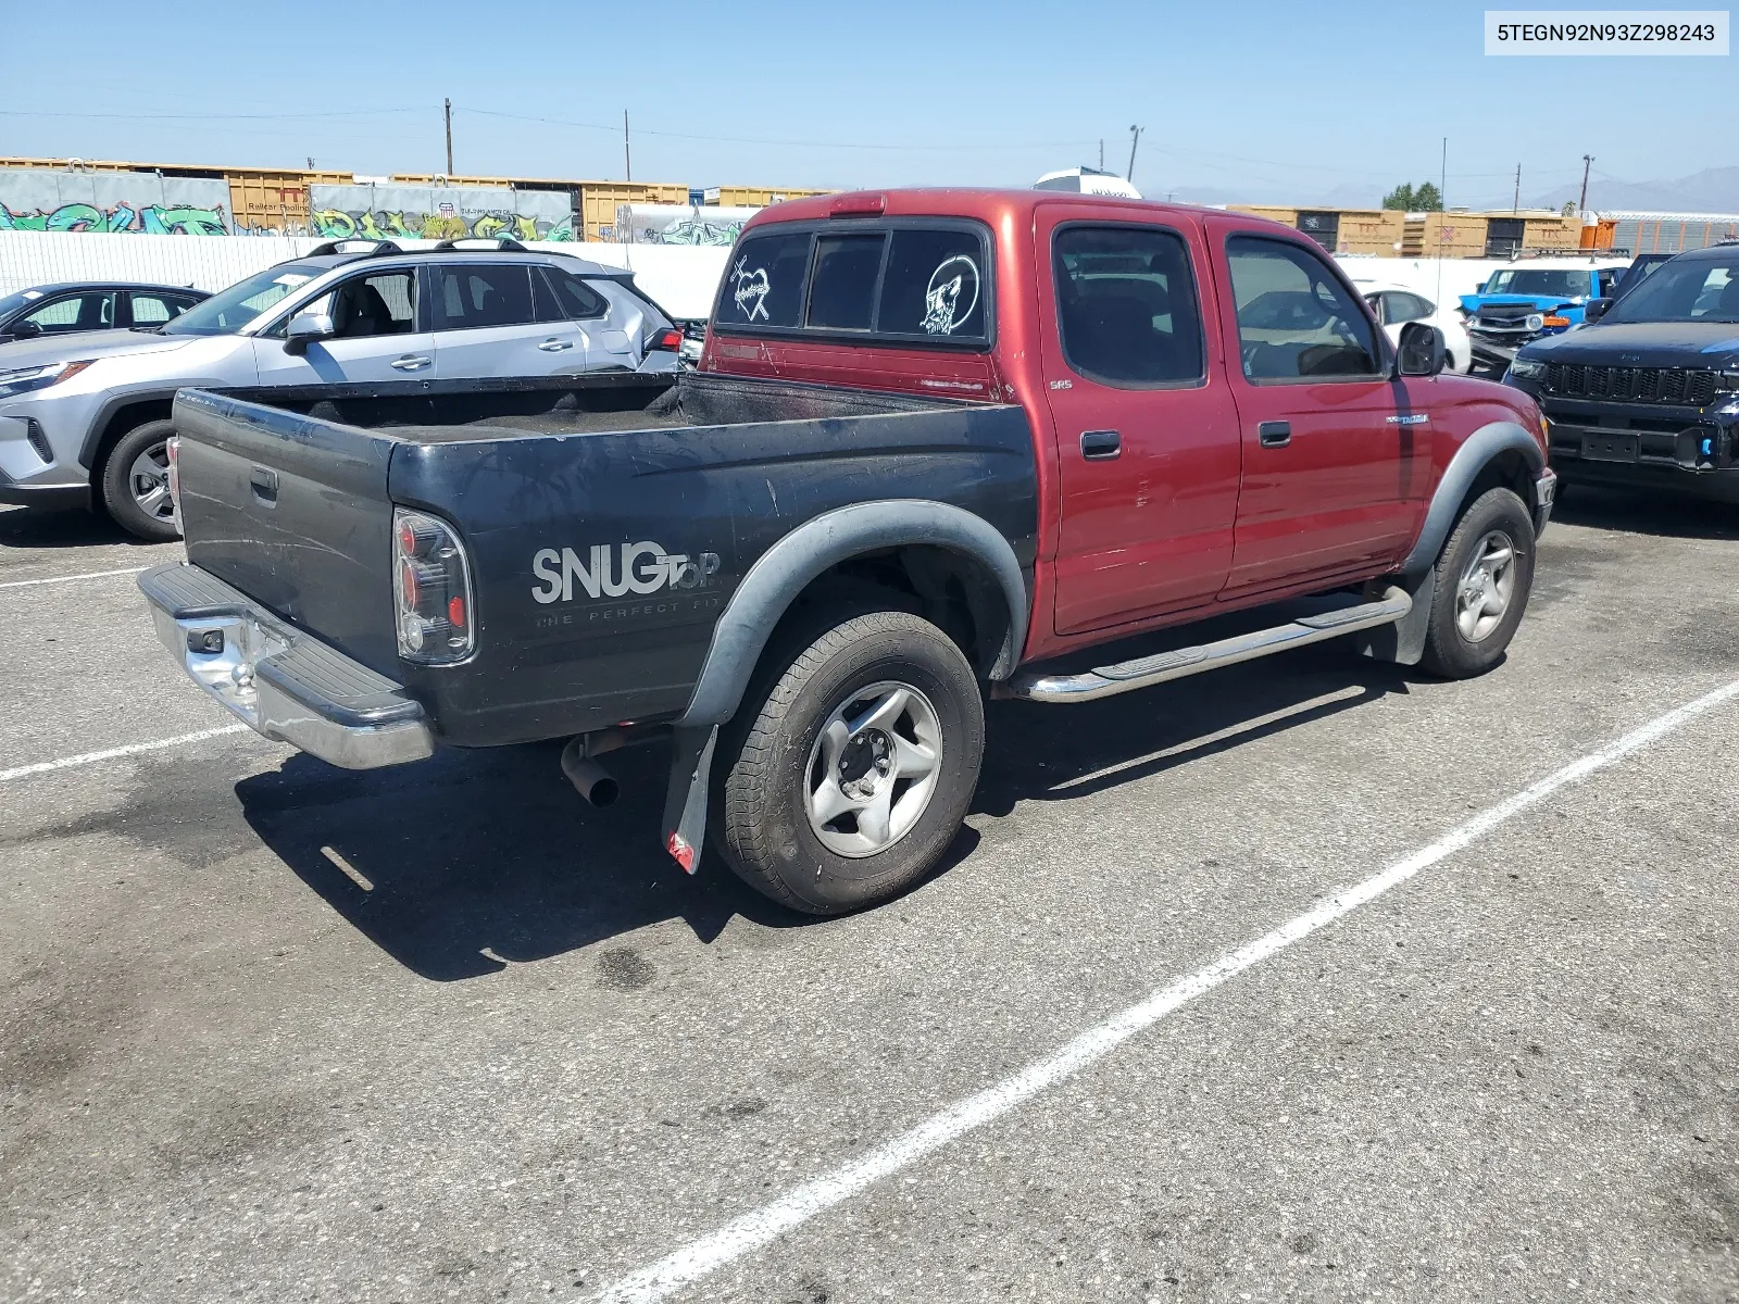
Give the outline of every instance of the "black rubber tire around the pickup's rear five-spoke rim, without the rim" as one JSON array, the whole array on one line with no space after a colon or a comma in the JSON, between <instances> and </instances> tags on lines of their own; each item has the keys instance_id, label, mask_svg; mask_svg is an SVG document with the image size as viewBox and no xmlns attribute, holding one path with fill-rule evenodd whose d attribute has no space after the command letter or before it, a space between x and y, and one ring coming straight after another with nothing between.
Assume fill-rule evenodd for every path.
<instances>
[{"instance_id":1,"label":"black rubber tire around the pickup's rear five-spoke rim, without the rim","mask_svg":"<svg viewBox=\"0 0 1739 1304\"><path fill-rule=\"evenodd\" d=\"M889 683L916 689L930 709L927 718L941 739L936 782L915 822L885 848L842 855L821 840L809 814L812 779L830 774L816 760L826 755L821 730L859 701L854 694ZM977 788L983 756L984 702L972 666L948 635L904 610L817 614L769 645L743 706L720 734L713 842L750 887L793 909L840 915L876 904L918 882L946 854ZM897 774L889 779L890 791L908 793L911 781L901 788ZM852 819L842 817L843 836L850 836ZM842 836L831 826L823 833Z\"/></svg>"}]
</instances>

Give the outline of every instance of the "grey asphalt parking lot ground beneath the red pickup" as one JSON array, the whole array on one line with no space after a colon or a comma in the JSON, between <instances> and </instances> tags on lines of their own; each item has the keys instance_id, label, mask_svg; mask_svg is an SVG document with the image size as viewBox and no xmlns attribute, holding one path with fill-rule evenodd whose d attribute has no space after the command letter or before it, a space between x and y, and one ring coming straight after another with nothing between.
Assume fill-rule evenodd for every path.
<instances>
[{"instance_id":1,"label":"grey asphalt parking lot ground beneath the red pickup","mask_svg":"<svg viewBox=\"0 0 1739 1304\"><path fill-rule=\"evenodd\" d=\"M652 751L228 730L176 555L0 511L0 1299L1739 1299L1730 509L1572 496L1482 680L993 704L830 921L683 876Z\"/></svg>"}]
</instances>

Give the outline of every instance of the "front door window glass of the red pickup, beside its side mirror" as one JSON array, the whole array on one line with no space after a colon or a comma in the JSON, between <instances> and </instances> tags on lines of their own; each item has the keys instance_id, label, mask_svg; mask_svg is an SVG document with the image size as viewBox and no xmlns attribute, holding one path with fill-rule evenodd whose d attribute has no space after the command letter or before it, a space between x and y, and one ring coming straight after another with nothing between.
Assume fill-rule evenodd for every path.
<instances>
[{"instance_id":1,"label":"front door window glass of the red pickup, beside its side mirror","mask_svg":"<svg viewBox=\"0 0 1739 1304\"><path fill-rule=\"evenodd\" d=\"M1243 374L1250 381L1381 376L1370 315L1329 266L1290 240L1226 242Z\"/></svg>"}]
</instances>

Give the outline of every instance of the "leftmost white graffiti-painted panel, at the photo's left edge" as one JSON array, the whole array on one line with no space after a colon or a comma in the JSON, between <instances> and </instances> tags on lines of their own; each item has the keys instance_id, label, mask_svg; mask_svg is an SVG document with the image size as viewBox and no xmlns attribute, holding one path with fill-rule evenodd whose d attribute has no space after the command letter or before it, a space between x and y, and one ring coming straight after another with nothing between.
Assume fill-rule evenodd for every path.
<instances>
[{"instance_id":1,"label":"leftmost white graffiti-painted panel, at the photo's left edge","mask_svg":"<svg viewBox=\"0 0 1739 1304\"><path fill-rule=\"evenodd\" d=\"M230 183L7 167L0 231L230 235Z\"/></svg>"}]
</instances>

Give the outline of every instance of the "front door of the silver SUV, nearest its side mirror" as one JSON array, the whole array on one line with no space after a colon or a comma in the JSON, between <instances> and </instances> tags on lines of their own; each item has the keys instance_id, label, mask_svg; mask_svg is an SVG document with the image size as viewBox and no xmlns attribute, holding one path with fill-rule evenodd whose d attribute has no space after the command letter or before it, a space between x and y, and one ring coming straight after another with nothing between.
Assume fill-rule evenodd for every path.
<instances>
[{"instance_id":1,"label":"front door of the silver SUV, nearest its side mirror","mask_svg":"<svg viewBox=\"0 0 1739 1304\"><path fill-rule=\"evenodd\" d=\"M435 337L417 330L416 271L351 276L297 311L330 315L336 334L310 343L304 353L285 349L287 320L256 336L261 384L412 381L435 374Z\"/></svg>"}]
</instances>

